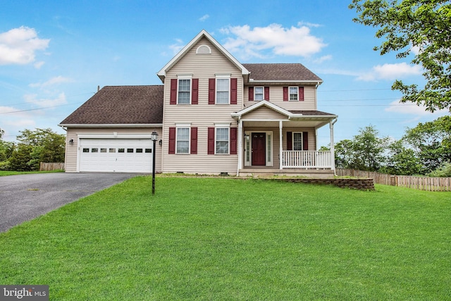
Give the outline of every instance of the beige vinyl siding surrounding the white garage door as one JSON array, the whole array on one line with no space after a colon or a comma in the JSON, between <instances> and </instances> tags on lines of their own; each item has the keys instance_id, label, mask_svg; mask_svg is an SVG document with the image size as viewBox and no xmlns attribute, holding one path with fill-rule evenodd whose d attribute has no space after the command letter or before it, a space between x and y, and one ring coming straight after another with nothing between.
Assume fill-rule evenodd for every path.
<instances>
[{"instance_id":1,"label":"beige vinyl siding surrounding the white garage door","mask_svg":"<svg viewBox=\"0 0 451 301\"><path fill-rule=\"evenodd\" d=\"M68 128L66 133L66 172L77 172L77 156L78 156L78 135L107 135L113 138L114 133L117 137L126 137L127 135L147 134L150 135L153 131L159 134L159 140L163 139L161 136L161 128ZM73 145L69 144L69 140L73 139ZM155 171L161 172L161 146L156 142L155 152Z\"/></svg>"}]
</instances>

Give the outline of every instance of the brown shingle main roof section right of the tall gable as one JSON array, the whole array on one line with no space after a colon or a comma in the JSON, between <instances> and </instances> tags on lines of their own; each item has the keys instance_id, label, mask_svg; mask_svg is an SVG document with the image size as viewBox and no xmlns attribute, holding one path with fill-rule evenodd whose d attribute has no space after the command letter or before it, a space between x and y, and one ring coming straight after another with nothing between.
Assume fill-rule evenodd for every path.
<instances>
[{"instance_id":1,"label":"brown shingle main roof section right of the tall gable","mask_svg":"<svg viewBox=\"0 0 451 301\"><path fill-rule=\"evenodd\" d=\"M252 80L311 80L323 81L300 63L243 63Z\"/></svg>"}]
</instances>

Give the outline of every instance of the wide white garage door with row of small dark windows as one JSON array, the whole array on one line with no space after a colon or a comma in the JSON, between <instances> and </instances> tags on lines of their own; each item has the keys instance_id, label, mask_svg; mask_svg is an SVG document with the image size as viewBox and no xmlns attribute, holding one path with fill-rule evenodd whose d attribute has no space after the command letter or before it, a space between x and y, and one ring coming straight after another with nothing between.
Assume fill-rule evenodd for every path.
<instances>
[{"instance_id":1,"label":"wide white garage door with row of small dark windows","mask_svg":"<svg viewBox=\"0 0 451 301\"><path fill-rule=\"evenodd\" d=\"M80 139L80 171L152 172L150 139Z\"/></svg>"}]
</instances>

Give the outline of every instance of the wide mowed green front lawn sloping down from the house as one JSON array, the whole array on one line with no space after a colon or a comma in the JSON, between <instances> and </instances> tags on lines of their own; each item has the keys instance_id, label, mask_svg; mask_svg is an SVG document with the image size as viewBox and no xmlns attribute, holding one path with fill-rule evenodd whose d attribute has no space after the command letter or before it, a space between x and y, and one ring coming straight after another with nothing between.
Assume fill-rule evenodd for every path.
<instances>
[{"instance_id":1,"label":"wide mowed green front lawn sloping down from the house","mask_svg":"<svg viewBox=\"0 0 451 301\"><path fill-rule=\"evenodd\" d=\"M0 234L51 300L450 300L451 194L137 177Z\"/></svg>"}]
</instances>

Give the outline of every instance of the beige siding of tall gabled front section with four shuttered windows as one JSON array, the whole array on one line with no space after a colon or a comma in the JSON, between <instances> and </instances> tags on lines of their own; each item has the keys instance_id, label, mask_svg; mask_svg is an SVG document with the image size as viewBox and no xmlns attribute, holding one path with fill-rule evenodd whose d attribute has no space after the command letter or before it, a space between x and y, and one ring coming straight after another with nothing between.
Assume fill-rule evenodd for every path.
<instances>
[{"instance_id":1,"label":"beige siding of tall gabled front section with four shuttered windows","mask_svg":"<svg viewBox=\"0 0 451 301\"><path fill-rule=\"evenodd\" d=\"M211 54L196 54L200 45L207 45ZM218 74L230 74L237 78L237 104L208 104L209 78ZM169 104L171 79L177 75L192 75L199 78L199 104ZM227 172L236 174L237 154L207 154L208 128L215 123L228 123L237 127L230 113L242 109L242 74L240 70L223 56L207 39L201 39L170 70L166 71L163 106L163 173L206 173ZM197 127L197 154L168 154L169 128L177 123L189 123Z\"/></svg>"}]
</instances>

